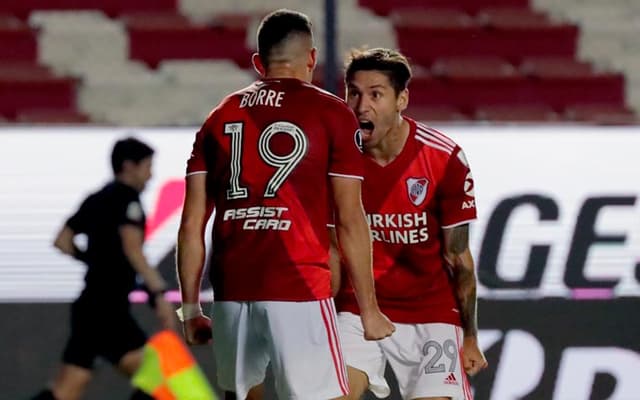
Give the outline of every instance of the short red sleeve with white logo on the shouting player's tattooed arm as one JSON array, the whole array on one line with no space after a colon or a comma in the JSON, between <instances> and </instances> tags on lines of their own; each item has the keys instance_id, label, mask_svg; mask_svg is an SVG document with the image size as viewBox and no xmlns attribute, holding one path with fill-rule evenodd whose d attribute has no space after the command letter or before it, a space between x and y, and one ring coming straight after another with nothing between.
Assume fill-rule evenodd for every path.
<instances>
[{"instance_id":1,"label":"short red sleeve with white logo on the shouting player's tattooed arm","mask_svg":"<svg viewBox=\"0 0 640 400\"><path fill-rule=\"evenodd\" d=\"M449 158L438 189L440 224L453 228L477 218L474 182L461 148Z\"/></svg>"}]
</instances>

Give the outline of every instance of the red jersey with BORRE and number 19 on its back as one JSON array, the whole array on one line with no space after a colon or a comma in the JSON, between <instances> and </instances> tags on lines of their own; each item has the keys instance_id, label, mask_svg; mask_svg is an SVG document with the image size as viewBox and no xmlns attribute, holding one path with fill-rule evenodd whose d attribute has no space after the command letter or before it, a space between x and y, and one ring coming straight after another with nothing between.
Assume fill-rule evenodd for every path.
<instances>
[{"instance_id":1,"label":"red jersey with BORRE and number 19 on its back","mask_svg":"<svg viewBox=\"0 0 640 400\"><path fill-rule=\"evenodd\" d=\"M358 128L341 99L297 79L259 80L213 110L187 174L208 173L215 202L217 300L331 296L329 176L362 179Z\"/></svg>"}]
</instances>

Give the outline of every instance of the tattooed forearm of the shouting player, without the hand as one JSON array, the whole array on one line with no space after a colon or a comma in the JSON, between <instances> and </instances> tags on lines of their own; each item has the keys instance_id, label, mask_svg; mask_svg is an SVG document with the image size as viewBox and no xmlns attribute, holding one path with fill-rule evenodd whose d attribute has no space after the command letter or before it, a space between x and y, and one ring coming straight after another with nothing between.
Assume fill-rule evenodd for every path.
<instances>
[{"instance_id":1,"label":"tattooed forearm of the shouting player, without the hand","mask_svg":"<svg viewBox=\"0 0 640 400\"><path fill-rule=\"evenodd\" d=\"M453 269L465 337L477 336L476 274L469 250L469 225L444 229L445 259Z\"/></svg>"}]
</instances>

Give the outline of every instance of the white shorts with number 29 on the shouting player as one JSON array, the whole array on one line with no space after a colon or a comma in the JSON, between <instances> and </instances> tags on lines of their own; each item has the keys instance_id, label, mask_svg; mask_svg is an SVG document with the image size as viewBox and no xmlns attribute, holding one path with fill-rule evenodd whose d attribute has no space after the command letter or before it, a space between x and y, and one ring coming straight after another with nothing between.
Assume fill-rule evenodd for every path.
<instances>
[{"instance_id":1,"label":"white shorts with number 29 on the shouting player","mask_svg":"<svg viewBox=\"0 0 640 400\"><path fill-rule=\"evenodd\" d=\"M348 366L369 377L369 390L387 397L391 389L384 378L388 362L396 375L403 399L450 397L472 400L462 368L462 329L451 324L399 324L380 341L364 339L360 316L341 312L338 327Z\"/></svg>"}]
</instances>

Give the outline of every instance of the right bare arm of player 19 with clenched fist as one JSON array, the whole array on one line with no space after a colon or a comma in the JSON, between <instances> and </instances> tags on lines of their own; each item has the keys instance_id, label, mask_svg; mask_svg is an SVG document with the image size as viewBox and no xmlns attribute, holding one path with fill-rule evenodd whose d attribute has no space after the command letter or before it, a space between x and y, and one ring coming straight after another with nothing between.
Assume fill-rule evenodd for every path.
<instances>
[{"instance_id":1,"label":"right bare arm of player 19 with clenched fist","mask_svg":"<svg viewBox=\"0 0 640 400\"><path fill-rule=\"evenodd\" d=\"M338 243L355 290L365 339L390 336L395 327L378 307L371 266L371 233L360 198L358 179L331 177Z\"/></svg>"}]
</instances>

